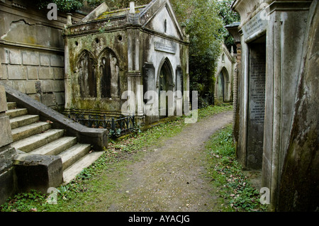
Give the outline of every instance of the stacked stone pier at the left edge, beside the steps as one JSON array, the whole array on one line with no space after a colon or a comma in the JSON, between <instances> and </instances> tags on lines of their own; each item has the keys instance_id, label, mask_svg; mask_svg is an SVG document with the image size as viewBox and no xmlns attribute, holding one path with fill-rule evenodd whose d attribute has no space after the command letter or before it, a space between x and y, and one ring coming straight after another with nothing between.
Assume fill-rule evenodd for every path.
<instances>
[{"instance_id":1,"label":"stacked stone pier at the left edge, beside the steps","mask_svg":"<svg viewBox=\"0 0 319 226\"><path fill-rule=\"evenodd\" d=\"M6 92L0 84L0 205L16 191L13 158L16 149L11 147L12 135L6 103Z\"/></svg>"}]
</instances>

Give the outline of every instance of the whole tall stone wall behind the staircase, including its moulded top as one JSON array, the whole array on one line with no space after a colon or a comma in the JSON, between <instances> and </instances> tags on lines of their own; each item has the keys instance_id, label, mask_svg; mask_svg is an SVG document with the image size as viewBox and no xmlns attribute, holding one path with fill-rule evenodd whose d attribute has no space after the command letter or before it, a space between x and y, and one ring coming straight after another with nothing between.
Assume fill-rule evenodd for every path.
<instances>
[{"instance_id":1,"label":"whole tall stone wall behind the staircase, including its moulded top","mask_svg":"<svg viewBox=\"0 0 319 226\"><path fill-rule=\"evenodd\" d=\"M65 43L67 15L47 18L48 9L28 1L0 1L0 81L62 111L65 106ZM85 15L73 13L73 23Z\"/></svg>"}]
</instances>

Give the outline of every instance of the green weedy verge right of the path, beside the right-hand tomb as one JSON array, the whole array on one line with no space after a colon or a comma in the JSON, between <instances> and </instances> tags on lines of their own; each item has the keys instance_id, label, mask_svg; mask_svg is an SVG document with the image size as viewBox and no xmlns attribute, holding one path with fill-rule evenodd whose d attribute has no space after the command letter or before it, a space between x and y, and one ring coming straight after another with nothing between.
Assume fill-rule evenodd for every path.
<instances>
[{"instance_id":1,"label":"green weedy verge right of the path, beside the right-hand tomb","mask_svg":"<svg viewBox=\"0 0 319 226\"><path fill-rule=\"evenodd\" d=\"M232 132L232 125L228 125L206 143L208 174L213 186L218 188L215 195L222 211L265 211L266 206L259 202L259 191L235 159Z\"/></svg>"}]
</instances>

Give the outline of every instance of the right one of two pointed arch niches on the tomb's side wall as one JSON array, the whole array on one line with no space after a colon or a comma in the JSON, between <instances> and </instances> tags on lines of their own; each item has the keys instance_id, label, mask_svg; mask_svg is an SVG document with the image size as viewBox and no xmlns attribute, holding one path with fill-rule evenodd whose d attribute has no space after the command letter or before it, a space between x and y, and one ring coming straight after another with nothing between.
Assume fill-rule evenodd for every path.
<instances>
[{"instance_id":1,"label":"right one of two pointed arch niches on the tomb's side wall","mask_svg":"<svg viewBox=\"0 0 319 226\"><path fill-rule=\"evenodd\" d=\"M106 48L100 56L101 98L118 98L120 96L120 67L118 57Z\"/></svg>"}]
</instances>

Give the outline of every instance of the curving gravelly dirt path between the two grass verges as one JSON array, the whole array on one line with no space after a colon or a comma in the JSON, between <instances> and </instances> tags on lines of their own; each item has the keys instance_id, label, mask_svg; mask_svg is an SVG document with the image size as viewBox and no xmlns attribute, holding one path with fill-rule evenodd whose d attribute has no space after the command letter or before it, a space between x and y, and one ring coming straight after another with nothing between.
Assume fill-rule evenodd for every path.
<instances>
[{"instance_id":1,"label":"curving gravelly dirt path between the two grass verges","mask_svg":"<svg viewBox=\"0 0 319 226\"><path fill-rule=\"evenodd\" d=\"M128 198L108 211L212 211L216 197L205 176L204 142L231 123L232 112L189 124L178 135L152 147L142 160L128 166L120 193Z\"/></svg>"}]
</instances>

